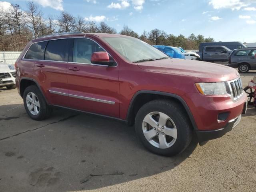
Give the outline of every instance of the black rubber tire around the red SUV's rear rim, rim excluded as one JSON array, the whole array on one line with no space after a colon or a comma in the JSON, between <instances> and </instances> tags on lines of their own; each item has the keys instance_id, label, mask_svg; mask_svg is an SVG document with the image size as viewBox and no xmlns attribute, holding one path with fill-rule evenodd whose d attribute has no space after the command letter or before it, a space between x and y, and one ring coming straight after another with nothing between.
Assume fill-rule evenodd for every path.
<instances>
[{"instance_id":1,"label":"black rubber tire around the red SUV's rear rim, rim excluded","mask_svg":"<svg viewBox=\"0 0 256 192\"><path fill-rule=\"evenodd\" d=\"M40 103L40 110L39 110L38 114L36 114L36 115L32 114L29 111L28 106L27 106L26 97L29 93L34 93L38 99L38 102ZM52 112L52 108L50 108L50 106L47 105L43 94L40 92L38 87L35 85L28 86L24 90L23 102L24 102L24 107L26 109L26 112L28 113L30 118L32 118L34 120L44 120L44 119L48 118Z\"/></svg>"}]
</instances>

